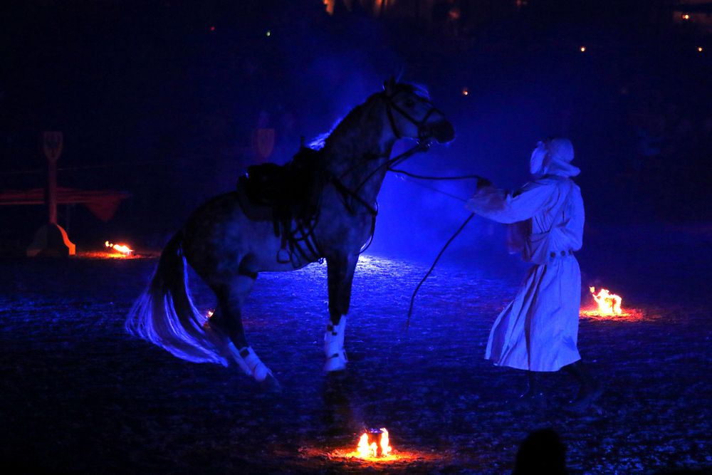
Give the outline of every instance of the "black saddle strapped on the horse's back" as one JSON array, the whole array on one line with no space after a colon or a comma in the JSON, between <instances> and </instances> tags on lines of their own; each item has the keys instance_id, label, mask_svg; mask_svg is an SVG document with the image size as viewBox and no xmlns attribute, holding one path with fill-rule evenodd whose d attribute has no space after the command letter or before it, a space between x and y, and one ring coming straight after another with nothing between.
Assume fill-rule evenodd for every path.
<instances>
[{"instance_id":1,"label":"black saddle strapped on the horse's back","mask_svg":"<svg viewBox=\"0 0 712 475\"><path fill-rule=\"evenodd\" d=\"M313 227L326 177L322 157L318 150L301 147L285 165L251 165L238 179L239 202L247 218L272 221L275 236L281 237L280 263L293 261L294 251L308 261L318 254Z\"/></svg>"}]
</instances>

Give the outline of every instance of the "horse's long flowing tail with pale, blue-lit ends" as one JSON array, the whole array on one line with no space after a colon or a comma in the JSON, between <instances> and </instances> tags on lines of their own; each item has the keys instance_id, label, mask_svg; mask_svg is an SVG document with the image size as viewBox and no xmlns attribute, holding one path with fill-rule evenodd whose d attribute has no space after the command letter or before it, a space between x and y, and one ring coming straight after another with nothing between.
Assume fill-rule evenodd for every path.
<instances>
[{"instance_id":1,"label":"horse's long flowing tail with pale, blue-lit ends","mask_svg":"<svg viewBox=\"0 0 712 475\"><path fill-rule=\"evenodd\" d=\"M182 239L179 232L164 247L151 282L126 319L126 330L184 360L227 366L219 336L206 328L207 317L190 298Z\"/></svg>"}]
</instances>

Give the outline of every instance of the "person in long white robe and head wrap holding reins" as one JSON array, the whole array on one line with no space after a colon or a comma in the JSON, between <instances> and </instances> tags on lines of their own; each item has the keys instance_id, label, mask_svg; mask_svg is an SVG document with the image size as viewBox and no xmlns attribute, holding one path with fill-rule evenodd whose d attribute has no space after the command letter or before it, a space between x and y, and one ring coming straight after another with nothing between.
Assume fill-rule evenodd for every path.
<instances>
[{"instance_id":1,"label":"person in long white robe and head wrap holding reins","mask_svg":"<svg viewBox=\"0 0 712 475\"><path fill-rule=\"evenodd\" d=\"M545 396L537 385L540 372L564 368L580 382L576 407L600 396L584 370L577 348L581 272L574 252L581 249L585 219L581 190L571 177L571 142L539 142L530 158L533 181L509 193L480 182L466 207L488 219L510 224L508 244L533 264L514 300L497 317L485 357L495 365L528 371L523 398L537 406ZM513 233L512 233L513 231Z\"/></svg>"}]
</instances>

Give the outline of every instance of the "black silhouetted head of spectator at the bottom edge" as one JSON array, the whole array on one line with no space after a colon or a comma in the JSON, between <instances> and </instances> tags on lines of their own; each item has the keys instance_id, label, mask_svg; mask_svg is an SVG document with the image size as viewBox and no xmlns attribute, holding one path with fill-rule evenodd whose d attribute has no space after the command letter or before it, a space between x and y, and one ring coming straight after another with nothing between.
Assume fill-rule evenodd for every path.
<instances>
[{"instance_id":1,"label":"black silhouetted head of spectator at the bottom edge","mask_svg":"<svg viewBox=\"0 0 712 475\"><path fill-rule=\"evenodd\" d=\"M552 429L539 429L519 446L512 475L566 475L566 447Z\"/></svg>"}]
</instances>

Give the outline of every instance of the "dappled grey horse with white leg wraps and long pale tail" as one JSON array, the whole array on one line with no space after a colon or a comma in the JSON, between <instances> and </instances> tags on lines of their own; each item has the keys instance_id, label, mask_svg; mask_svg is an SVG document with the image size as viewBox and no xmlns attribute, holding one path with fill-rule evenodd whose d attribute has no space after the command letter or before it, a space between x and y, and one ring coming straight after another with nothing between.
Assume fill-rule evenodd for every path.
<instances>
[{"instance_id":1,"label":"dappled grey horse with white leg wraps and long pale tail","mask_svg":"<svg viewBox=\"0 0 712 475\"><path fill-rule=\"evenodd\" d=\"M241 307L259 272L293 271L325 258L330 322L324 337L325 370L343 370L346 314L360 250L372 234L375 203L399 138L444 143L454 139L450 122L414 85L384 83L325 139L318 219L310 252L276 259L283 241L270 221L253 221L239 191L221 194L199 207L162 251L157 269L127 320L130 333L192 362L228 365L230 359L257 381L271 370L248 345ZM187 288L186 261L216 294L207 318L194 307Z\"/></svg>"}]
</instances>

